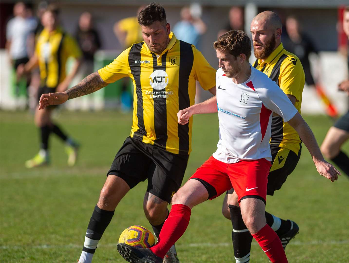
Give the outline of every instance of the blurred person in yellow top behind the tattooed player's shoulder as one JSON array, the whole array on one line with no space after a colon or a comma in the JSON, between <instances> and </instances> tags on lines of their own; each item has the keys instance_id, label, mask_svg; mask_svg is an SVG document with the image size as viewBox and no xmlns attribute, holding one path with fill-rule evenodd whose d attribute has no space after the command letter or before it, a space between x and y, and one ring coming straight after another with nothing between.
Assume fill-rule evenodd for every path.
<instances>
[{"instance_id":1,"label":"blurred person in yellow top behind the tattooed player's shoulder","mask_svg":"<svg viewBox=\"0 0 349 263\"><path fill-rule=\"evenodd\" d=\"M141 6L138 13L144 8ZM137 16L126 17L114 24L114 34L122 45L122 50L132 46L134 43L142 42L142 29L138 24ZM121 86L121 110L126 112L132 109L132 95L128 90L130 79L122 80Z\"/></svg>"}]
</instances>

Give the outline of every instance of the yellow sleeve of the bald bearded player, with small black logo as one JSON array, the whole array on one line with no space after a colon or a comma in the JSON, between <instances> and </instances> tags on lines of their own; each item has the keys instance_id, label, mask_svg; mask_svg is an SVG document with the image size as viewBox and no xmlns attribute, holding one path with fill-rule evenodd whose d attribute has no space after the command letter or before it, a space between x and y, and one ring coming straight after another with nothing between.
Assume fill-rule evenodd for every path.
<instances>
[{"instance_id":1,"label":"yellow sleeve of the bald bearded player, with small black logo","mask_svg":"<svg viewBox=\"0 0 349 263\"><path fill-rule=\"evenodd\" d=\"M302 98L305 76L302 64L296 56L288 56L282 62L279 86L285 94L293 95L297 101Z\"/></svg>"}]
</instances>

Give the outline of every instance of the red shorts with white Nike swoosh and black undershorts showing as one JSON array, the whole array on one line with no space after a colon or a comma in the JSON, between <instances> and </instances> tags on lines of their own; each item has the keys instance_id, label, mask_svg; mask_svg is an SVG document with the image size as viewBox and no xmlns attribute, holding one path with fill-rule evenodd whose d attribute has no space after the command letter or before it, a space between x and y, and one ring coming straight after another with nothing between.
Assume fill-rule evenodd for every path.
<instances>
[{"instance_id":1,"label":"red shorts with white Nike swoosh and black undershorts showing","mask_svg":"<svg viewBox=\"0 0 349 263\"><path fill-rule=\"evenodd\" d=\"M211 156L190 179L199 180L206 187L211 200L233 187L239 203L251 197L265 203L270 166L270 161L264 158L227 164Z\"/></svg>"}]
</instances>

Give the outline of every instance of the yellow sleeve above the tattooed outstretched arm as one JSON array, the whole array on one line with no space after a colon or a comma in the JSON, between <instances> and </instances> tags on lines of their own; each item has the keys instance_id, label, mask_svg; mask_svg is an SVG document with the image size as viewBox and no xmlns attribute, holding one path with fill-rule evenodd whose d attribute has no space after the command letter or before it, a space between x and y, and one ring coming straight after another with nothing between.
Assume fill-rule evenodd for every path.
<instances>
[{"instance_id":1,"label":"yellow sleeve above the tattooed outstretched arm","mask_svg":"<svg viewBox=\"0 0 349 263\"><path fill-rule=\"evenodd\" d=\"M106 83L113 83L128 76L128 53L131 47L124 50L113 62L98 70L99 76Z\"/></svg>"}]
</instances>

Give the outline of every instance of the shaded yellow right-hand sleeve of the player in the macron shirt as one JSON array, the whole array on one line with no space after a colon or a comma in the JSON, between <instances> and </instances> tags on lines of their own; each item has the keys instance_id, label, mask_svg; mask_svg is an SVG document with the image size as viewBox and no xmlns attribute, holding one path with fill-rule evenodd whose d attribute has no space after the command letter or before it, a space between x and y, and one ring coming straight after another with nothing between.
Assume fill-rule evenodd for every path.
<instances>
[{"instance_id":1,"label":"shaded yellow right-hand sleeve of the player in the macron shirt","mask_svg":"<svg viewBox=\"0 0 349 263\"><path fill-rule=\"evenodd\" d=\"M216 85L216 69L211 67L202 53L192 45L194 53L193 70L195 80L199 81L204 90L209 90Z\"/></svg>"}]
</instances>

